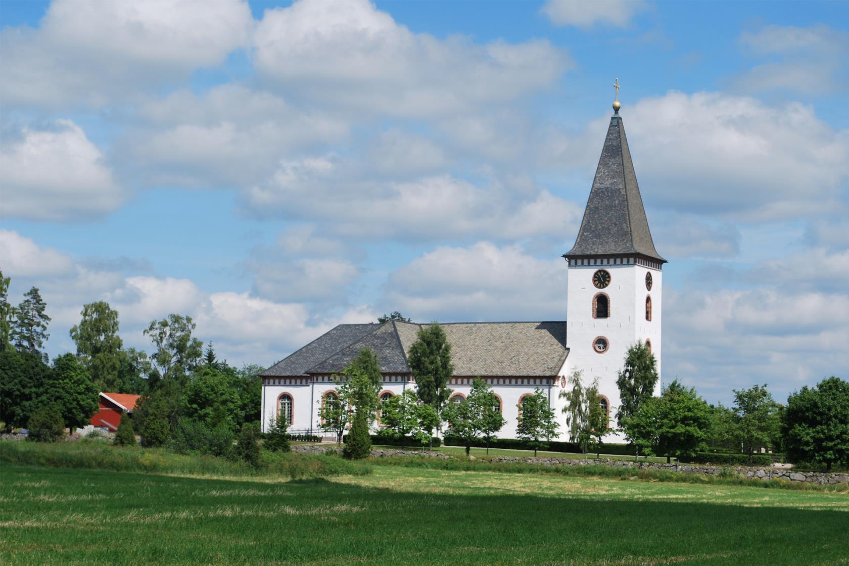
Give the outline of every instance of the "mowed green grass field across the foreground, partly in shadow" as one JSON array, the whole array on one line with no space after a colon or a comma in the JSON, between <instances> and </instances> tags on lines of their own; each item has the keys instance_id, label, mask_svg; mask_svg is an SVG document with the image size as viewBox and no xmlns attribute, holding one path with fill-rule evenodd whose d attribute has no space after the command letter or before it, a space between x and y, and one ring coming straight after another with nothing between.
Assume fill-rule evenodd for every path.
<instances>
[{"instance_id":1,"label":"mowed green grass field across the foreground, partly in shadow","mask_svg":"<svg viewBox=\"0 0 849 566\"><path fill-rule=\"evenodd\" d=\"M375 467L273 482L3 465L8 564L841 564L849 496Z\"/></svg>"}]
</instances>

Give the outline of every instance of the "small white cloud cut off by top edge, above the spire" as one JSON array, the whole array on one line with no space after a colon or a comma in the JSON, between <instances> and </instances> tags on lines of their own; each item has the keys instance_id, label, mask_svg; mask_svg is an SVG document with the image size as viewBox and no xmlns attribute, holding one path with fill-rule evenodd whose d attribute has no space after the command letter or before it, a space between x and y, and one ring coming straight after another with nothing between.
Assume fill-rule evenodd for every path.
<instances>
[{"instance_id":1,"label":"small white cloud cut off by top edge, above the spire","mask_svg":"<svg viewBox=\"0 0 849 566\"><path fill-rule=\"evenodd\" d=\"M627 27L647 6L644 0L548 0L540 11L554 25Z\"/></svg>"}]
</instances>

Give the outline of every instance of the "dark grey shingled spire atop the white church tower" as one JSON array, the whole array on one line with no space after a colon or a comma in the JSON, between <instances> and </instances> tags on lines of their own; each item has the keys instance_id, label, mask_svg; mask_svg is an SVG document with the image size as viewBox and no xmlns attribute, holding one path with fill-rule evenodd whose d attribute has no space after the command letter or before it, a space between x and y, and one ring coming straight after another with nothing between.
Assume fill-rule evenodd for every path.
<instances>
[{"instance_id":1,"label":"dark grey shingled spire atop the white church tower","mask_svg":"<svg viewBox=\"0 0 849 566\"><path fill-rule=\"evenodd\" d=\"M642 255L666 263L655 249L620 116L610 118L575 246L563 257Z\"/></svg>"}]
</instances>

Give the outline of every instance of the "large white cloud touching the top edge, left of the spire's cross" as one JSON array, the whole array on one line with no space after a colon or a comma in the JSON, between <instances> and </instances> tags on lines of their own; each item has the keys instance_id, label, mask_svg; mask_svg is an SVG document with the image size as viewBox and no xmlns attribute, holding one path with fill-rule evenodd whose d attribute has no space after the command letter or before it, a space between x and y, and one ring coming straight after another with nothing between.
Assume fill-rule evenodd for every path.
<instances>
[{"instance_id":1,"label":"large white cloud touching the top edge, left of the spire's cross","mask_svg":"<svg viewBox=\"0 0 849 566\"><path fill-rule=\"evenodd\" d=\"M501 103L548 87L571 65L548 41L476 45L413 33L367 0L301 0L256 27L262 77L303 98L423 117Z\"/></svg>"}]
</instances>

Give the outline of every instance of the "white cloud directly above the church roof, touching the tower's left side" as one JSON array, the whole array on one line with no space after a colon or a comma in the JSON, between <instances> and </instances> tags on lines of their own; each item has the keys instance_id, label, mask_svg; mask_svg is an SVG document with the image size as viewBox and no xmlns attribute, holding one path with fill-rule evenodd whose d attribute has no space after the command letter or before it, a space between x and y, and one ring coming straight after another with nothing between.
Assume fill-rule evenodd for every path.
<instances>
[{"instance_id":1,"label":"white cloud directly above the church roof, touching the tower's left side","mask_svg":"<svg viewBox=\"0 0 849 566\"><path fill-rule=\"evenodd\" d=\"M561 258L479 242L437 248L393 272L385 304L424 321L552 320L565 318L565 289Z\"/></svg>"}]
</instances>

